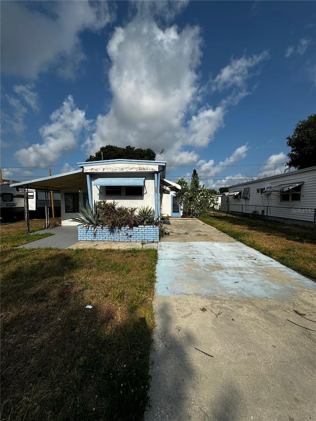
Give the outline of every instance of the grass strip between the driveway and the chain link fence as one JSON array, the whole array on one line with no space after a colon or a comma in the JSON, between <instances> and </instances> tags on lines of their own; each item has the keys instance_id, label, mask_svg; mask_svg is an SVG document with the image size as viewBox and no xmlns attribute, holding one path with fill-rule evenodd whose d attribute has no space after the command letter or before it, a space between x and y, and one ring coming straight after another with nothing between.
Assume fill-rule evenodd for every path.
<instances>
[{"instance_id":1,"label":"grass strip between the driveway and the chain link fence","mask_svg":"<svg viewBox=\"0 0 316 421\"><path fill-rule=\"evenodd\" d=\"M213 213L199 218L242 243L316 281L316 239L313 230L294 225Z\"/></svg>"}]
</instances>

